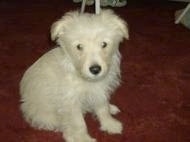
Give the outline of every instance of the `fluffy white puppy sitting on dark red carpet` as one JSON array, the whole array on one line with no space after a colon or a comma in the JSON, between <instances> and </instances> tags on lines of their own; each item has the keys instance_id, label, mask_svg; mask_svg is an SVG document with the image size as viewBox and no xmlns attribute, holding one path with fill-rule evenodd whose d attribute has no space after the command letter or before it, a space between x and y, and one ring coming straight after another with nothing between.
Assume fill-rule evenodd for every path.
<instances>
[{"instance_id":1,"label":"fluffy white puppy sitting on dark red carpet","mask_svg":"<svg viewBox=\"0 0 190 142\"><path fill-rule=\"evenodd\" d=\"M32 126L63 132L67 142L95 142L87 132L84 114L92 112L100 129L122 132L109 103L120 83L119 43L128 38L125 22L111 10L99 15L66 13L51 28L57 47L43 55L24 74L21 110Z\"/></svg>"}]
</instances>

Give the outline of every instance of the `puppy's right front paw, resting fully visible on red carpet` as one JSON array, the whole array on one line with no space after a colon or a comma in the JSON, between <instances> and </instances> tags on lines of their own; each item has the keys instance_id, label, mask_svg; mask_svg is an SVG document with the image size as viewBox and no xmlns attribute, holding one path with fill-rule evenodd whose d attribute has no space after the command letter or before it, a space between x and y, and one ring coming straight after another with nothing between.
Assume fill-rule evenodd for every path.
<instances>
[{"instance_id":1,"label":"puppy's right front paw, resting fully visible on red carpet","mask_svg":"<svg viewBox=\"0 0 190 142\"><path fill-rule=\"evenodd\" d=\"M104 121L100 129L102 131L108 132L109 134L121 134L123 130L123 126L121 122L119 122L118 120L114 118L110 118Z\"/></svg>"}]
</instances>

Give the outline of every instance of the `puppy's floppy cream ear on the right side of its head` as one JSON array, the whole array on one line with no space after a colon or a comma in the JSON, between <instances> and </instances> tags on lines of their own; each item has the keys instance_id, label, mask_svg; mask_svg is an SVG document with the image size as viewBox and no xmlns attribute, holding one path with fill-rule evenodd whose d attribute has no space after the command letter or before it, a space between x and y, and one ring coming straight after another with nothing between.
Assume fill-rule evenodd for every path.
<instances>
[{"instance_id":1,"label":"puppy's floppy cream ear on the right side of its head","mask_svg":"<svg viewBox=\"0 0 190 142\"><path fill-rule=\"evenodd\" d=\"M101 16L103 19L109 20L108 22L114 24L114 27L120 32L121 36L129 39L129 31L127 23L117 16L112 10L102 10Z\"/></svg>"}]
</instances>

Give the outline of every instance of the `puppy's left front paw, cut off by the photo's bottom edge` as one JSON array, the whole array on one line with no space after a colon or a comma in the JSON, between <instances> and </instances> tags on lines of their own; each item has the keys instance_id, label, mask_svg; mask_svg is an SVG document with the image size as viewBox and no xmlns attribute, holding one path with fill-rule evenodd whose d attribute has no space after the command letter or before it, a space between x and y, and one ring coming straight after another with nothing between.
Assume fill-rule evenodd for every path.
<instances>
[{"instance_id":1,"label":"puppy's left front paw, cut off by the photo's bottom edge","mask_svg":"<svg viewBox=\"0 0 190 142\"><path fill-rule=\"evenodd\" d=\"M65 137L66 142L96 142L96 139L91 138L89 135L72 135Z\"/></svg>"}]
</instances>

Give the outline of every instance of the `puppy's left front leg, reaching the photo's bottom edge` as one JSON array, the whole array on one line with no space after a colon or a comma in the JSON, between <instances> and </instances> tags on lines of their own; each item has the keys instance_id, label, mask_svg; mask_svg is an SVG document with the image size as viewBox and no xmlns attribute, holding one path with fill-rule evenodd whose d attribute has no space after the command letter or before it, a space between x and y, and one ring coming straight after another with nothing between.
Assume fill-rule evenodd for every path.
<instances>
[{"instance_id":1,"label":"puppy's left front leg, reaching the photo's bottom edge","mask_svg":"<svg viewBox=\"0 0 190 142\"><path fill-rule=\"evenodd\" d=\"M96 142L89 136L83 114L76 106L63 113L61 127L67 142Z\"/></svg>"}]
</instances>

